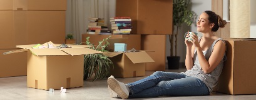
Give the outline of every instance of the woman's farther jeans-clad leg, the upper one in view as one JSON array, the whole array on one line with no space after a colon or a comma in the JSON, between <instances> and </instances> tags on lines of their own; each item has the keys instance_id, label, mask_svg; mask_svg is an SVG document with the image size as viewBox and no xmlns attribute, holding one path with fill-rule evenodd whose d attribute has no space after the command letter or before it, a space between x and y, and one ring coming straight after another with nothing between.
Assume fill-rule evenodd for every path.
<instances>
[{"instance_id":1,"label":"woman's farther jeans-clad leg, the upper one in view","mask_svg":"<svg viewBox=\"0 0 256 100\"><path fill-rule=\"evenodd\" d=\"M144 89L152 88L156 86L161 81L170 81L173 79L181 79L186 78L185 74L180 73L172 73L172 72L162 72L156 71L155 73L151 74L150 76L136 81L134 83L127 84L131 94L136 94Z\"/></svg>"}]
</instances>

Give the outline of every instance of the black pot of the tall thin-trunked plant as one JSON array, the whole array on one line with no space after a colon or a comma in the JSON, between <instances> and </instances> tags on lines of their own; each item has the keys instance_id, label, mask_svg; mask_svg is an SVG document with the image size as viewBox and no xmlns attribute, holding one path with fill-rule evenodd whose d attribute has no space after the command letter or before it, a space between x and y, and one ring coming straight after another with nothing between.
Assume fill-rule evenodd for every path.
<instances>
[{"instance_id":1,"label":"black pot of the tall thin-trunked plant","mask_svg":"<svg viewBox=\"0 0 256 100\"><path fill-rule=\"evenodd\" d=\"M168 69L179 69L180 68L180 56L168 56Z\"/></svg>"}]
</instances>

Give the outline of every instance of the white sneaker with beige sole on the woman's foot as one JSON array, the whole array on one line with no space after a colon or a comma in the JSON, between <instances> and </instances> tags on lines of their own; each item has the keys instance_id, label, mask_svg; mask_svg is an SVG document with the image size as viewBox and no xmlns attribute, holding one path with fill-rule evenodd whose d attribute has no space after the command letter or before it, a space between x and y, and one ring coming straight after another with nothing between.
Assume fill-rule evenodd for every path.
<instances>
[{"instance_id":1,"label":"white sneaker with beige sole on the woman's foot","mask_svg":"<svg viewBox=\"0 0 256 100\"><path fill-rule=\"evenodd\" d=\"M122 99L127 99L129 96L129 91L126 89L124 83L117 81L114 76L110 76L108 78L108 86L111 90L113 90L116 94L118 94Z\"/></svg>"}]
</instances>

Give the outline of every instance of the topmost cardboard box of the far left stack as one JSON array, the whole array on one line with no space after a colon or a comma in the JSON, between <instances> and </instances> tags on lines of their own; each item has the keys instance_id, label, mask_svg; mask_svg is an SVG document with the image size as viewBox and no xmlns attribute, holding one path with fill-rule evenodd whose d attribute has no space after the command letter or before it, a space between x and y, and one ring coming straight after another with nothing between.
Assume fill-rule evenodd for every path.
<instances>
[{"instance_id":1,"label":"topmost cardboard box of the far left stack","mask_svg":"<svg viewBox=\"0 0 256 100\"><path fill-rule=\"evenodd\" d=\"M66 0L0 0L0 10L66 10Z\"/></svg>"}]
</instances>

